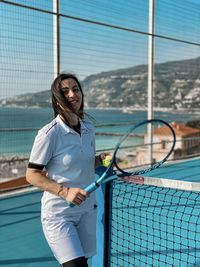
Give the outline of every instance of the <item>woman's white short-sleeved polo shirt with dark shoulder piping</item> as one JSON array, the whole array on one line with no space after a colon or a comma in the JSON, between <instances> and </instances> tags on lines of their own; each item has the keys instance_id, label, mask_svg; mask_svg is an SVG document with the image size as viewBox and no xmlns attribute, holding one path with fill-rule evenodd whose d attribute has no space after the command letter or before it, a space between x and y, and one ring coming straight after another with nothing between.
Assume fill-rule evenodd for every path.
<instances>
[{"instance_id":1,"label":"woman's white short-sleeved polo shirt with dark shoulder piping","mask_svg":"<svg viewBox=\"0 0 200 267\"><path fill-rule=\"evenodd\" d=\"M39 130L29 162L44 165L48 178L66 187L85 188L95 177L95 133L93 124L81 121L81 135L68 127L59 116ZM42 197L43 216L79 213L93 208L92 193L80 206L70 208L67 202L51 193Z\"/></svg>"}]
</instances>

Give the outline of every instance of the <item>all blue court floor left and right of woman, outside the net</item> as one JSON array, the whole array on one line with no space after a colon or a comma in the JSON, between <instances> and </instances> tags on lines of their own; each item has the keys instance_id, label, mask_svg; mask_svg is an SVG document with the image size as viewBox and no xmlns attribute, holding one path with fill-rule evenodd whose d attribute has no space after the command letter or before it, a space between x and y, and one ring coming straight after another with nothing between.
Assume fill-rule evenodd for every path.
<instances>
[{"instance_id":1,"label":"all blue court floor left and right of woman, outside the net","mask_svg":"<svg viewBox=\"0 0 200 267\"><path fill-rule=\"evenodd\" d=\"M152 171L150 175L153 177L199 182L200 159L183 161L177 164L170 164L166 167ZM12 196L1 196L0 266L59 266L59 264L54 259L42 233L40 223L41 194L42 193L40 191L35 190ZM93 258L90 266L102 267L104 244L102 215L104 203L103 193L101 189L97 190L97 199L99 202L97 256ZM111 266L117 266L117 264Z\"/></svg>"}]
</instances>

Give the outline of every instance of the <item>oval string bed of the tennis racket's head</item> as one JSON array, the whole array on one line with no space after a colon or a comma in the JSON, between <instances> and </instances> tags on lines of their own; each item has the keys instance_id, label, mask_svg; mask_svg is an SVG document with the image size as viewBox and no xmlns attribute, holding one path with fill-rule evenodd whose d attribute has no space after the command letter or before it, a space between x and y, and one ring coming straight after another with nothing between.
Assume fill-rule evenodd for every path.
<instances>
[{"instance_id":1,"label":"oval string bed of the tennis racket's head","mask_svg":"<svg viewBox=\"0 0 200 267\"><path fill-rule=\"evenodd\" d=\"M133 134L135 131L138 134ZM116 153L116 169L127 175L162 164L170 158L174 144L175 134L170 125L160 120L147 121L121 140Z\"/></svg>"}]
</instances>

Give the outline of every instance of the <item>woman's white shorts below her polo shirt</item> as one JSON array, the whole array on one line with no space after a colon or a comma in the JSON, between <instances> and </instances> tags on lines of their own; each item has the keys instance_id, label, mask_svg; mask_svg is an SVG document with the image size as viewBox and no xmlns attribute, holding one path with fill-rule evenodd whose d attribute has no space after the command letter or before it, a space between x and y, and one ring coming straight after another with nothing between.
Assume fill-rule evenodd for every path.
<instances>
[{"instance_id":1,"label":"woman's white shorts below her polo shirt","mask_svg":"<svg viewBox=\"0 0 200 267\"><path fill-rule=\"evenodd\" d=\"M42 219L46 240L60 264L96 254L97 208L58 220Z\"/></svg>"}]
</instances>

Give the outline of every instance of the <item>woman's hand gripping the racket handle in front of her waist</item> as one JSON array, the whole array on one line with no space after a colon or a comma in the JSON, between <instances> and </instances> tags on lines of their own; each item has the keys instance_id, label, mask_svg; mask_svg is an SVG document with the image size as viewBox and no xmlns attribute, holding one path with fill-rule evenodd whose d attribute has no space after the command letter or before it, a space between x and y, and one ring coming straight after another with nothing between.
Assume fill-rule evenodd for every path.
<instances>
[{"instance_id":1,"label":"woman's hand gripping the racket handle in front of her waist","mask_svg":"<svg viewBox=\"0 0 200 267\"><path fill-rule=\"evenodd\" d=\"M60 196L75 205L80 205L87 197L89 197L89 193L81 188L71 187L63 188Z\"/></svg>"}]
</instances>

